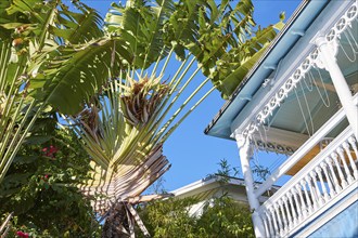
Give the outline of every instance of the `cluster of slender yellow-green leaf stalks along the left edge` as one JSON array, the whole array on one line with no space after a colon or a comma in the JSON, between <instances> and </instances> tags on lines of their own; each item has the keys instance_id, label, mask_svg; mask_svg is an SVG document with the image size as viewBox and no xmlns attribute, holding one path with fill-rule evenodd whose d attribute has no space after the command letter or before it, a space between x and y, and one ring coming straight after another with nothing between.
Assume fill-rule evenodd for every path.
<instances>
[{"instance_id":1,"label":"cluster of slender yellow-green leaf stalks along the left edge","mask_svg":"<svg viewBox=\"0 0 358 238\"><path fill-rule=\"evenodd\" d=\"M14 52L11 40L0 41L0 183L10 168L29 127L28 121L35 106L34 100L27 100L28 80L22 78L25 72L26 51ZM22 85L25 85L22 88Z\"/></svg>"}]
</instances>

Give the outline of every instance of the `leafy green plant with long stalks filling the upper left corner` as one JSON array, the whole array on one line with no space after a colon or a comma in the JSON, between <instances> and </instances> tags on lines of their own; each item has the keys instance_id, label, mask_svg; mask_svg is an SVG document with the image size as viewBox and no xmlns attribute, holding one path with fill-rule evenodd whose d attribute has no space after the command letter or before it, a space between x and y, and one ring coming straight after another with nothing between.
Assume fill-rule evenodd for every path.
<instances>
[{"instance_id":1,"label":"leafy green plant with long stalks filling the upper left corner","mask_svg":"<svg viewBox=\"0 0 358 238\"><path fill-rule=\"evenodd\" d=\"M0 182L41 111L49 105L79 111L106 80L113 42L103 38L93 9L74 6L76 12L52 0L0 3Z\"/></svg>"}]
</instances>

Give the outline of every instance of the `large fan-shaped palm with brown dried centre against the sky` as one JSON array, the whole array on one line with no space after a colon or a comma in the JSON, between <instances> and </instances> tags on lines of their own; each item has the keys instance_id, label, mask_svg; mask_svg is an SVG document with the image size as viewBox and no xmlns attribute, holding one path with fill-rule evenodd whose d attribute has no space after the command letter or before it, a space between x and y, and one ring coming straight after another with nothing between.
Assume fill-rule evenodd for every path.
<instances>
[{"instance_id":1,"label":"large fan-shaped palm with brown dried centre against the sky","mask_svg":"<svg viewBox=\"0 0 358 238\"><path fill-rule=\"evenodd\" d=\"M128 55L114 55L120 72L80 114L64 116L93 159L92 178L80 187L98 197L93 207L107 217L103 237L133 235L139 219L132 204L152 199L140 195L170 168L165 141L216 88L230 93L274 37L272 26L253 37L253 10L248 0L235 6L210 0L112 5L105 29ZM206 79L188 95L184 90L200 71ZM226 85L230 77L235 82ZM215 85L205 91L210 80Z\"/></svg>"}]
</instances>

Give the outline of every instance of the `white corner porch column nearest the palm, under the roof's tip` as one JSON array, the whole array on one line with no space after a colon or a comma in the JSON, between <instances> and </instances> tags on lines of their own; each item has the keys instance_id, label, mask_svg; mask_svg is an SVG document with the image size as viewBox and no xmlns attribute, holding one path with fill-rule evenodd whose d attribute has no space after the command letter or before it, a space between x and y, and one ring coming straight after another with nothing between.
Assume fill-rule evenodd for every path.
<instances>
[{"instance_id":1,"label":"white corner porch column nearest the palm, under the roof's tip","mask_svg":"<svg viewBox=\"0 0 358 238\"><path fill-rule=\"evenodd\" d=\"M254 177L253 177L253 172L250 168L250 159L253 156L253 147L251 145L250 140L241 134L235 134L235 140L239 147L241 169L244 175L248 204L253 211L253 223L254 223L255 235L256 237L266 237L263 220L259 217L259 214L257 213L257 209L259 208L259 202L254 194Z\"/></svg>"}]
</instances>

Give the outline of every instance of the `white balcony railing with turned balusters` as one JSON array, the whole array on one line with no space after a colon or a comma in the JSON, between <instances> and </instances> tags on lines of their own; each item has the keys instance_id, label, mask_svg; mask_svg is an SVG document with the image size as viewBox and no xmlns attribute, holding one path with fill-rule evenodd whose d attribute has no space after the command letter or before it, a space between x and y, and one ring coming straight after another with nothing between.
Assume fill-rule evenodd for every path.
<instances>
[{"instance_id":1,"label":"white balcony railing with turned balusters","mask_svg":"<svg viewBox=\"0 0 358 238\"><path fill-rule=\"evenodd\" d=\"M350 127L259 209L267 237L285 237L358 181L357 140Z\"/></svg>"}]
</instances>

